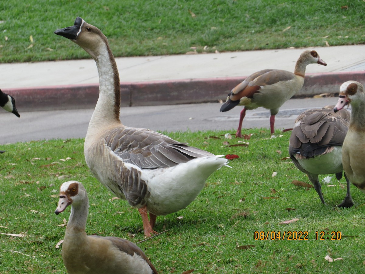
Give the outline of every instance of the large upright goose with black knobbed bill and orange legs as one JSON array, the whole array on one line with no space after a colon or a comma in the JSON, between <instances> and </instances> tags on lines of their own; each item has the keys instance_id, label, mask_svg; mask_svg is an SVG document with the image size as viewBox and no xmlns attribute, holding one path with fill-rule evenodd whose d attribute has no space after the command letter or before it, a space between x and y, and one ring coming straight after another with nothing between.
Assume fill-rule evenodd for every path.
<instances>
[{"instance_id":1,"label":"large upright goose with black knobbed bill and orange legs","mask_svg":"<svg viewBox=\"0 0 365 274\"><path fill-rule=\"evenodd\" d=\"M71 39L96 61L99 99L85 137L85 161L99 182L138 208L149 237L156 233L156 216L189 205L227 159L161 133L122 125L119 73L105 35L80 17L74 26L54 33Z\"/></svg>"}]
</instances>

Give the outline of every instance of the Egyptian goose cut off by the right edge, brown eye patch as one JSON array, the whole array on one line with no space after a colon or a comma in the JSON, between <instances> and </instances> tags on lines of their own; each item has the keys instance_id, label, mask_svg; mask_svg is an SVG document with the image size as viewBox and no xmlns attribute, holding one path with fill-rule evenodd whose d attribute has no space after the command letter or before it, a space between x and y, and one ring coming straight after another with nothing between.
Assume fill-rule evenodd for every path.
<instances>
[{"instance_id":1,"label":"Egyptian goose cut off by the right edge, brown eye patch","mask_svg":"<svg viewBox=\"0 0 365 274\"><path fill-rule=\"evenodd\" d=\"M340 87L337 112L351 104L349 131L342 145L343 170L351 183L365 193L365 92L356 81L347 81Z\"/></svg>"}]
</instances>

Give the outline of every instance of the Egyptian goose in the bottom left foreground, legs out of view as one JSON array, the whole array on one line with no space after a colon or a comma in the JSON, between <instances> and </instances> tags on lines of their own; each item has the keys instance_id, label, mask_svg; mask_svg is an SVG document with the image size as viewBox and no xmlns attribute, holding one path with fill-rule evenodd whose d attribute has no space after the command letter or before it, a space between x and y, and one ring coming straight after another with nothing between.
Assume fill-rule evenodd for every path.
<instances>
[{"instance_id":1,"label":"Egyptian goose in the bottom left foreground, legs out of view","mask_svg":"<svg viewBox=\"0 0 365 274\"><path fill-rule=\"evenodd\" d=\"M71 214L62 243L62 259L68 273L157 274L150 260L134 243L118 237L86 235L89 199L80 182L69 181L61 185L55 214L69 205Z\"/></svg>"}]
</instances>

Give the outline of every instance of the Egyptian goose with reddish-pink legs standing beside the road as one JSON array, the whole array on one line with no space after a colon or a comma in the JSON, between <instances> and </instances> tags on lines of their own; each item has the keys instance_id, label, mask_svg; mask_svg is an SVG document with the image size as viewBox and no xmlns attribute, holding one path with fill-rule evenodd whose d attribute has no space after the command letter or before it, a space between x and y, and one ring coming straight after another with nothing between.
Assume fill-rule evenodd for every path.
<instances>
[{"instance_id":1,"label":"Egyptian goose with reddish-pink legs standing beside the road","mask_svg":"<svg viewBox=\"0 0 365 274\"><path fill-rule=\"evenodd\" d=\"M303 87L306 67L315 63L327 65L315 50L306 50L300 54L294 73L279 69L264 69L251 74L234 87L228 94L226 102L220 107L220 111L231 110L237 105L244 106L239 115L236 137L243 137L241 130L246 110L258 107L270 110L270 131L273 134L275 115L279 108Z\"/></svg>"}]
</instances>

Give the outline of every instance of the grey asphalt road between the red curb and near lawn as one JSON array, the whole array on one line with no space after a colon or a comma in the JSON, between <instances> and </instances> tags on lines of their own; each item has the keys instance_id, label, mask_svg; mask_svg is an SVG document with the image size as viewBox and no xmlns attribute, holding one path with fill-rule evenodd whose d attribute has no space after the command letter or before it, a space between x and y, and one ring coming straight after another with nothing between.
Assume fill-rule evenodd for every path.
<instances>
[{"instance_id":1,"label":"grey asphalt road between the red curb and near lawn","mask_svg":"<svg viewBox=\"0 0 365 274\"><path fill-rule=\"evenodd\" d=\"M276 115L275 128L292 128L295 118L309 108L336 104L337 98L290 99ZM120 120L126 126L155 131L229 130L235 133L241 106L222 113L220 103L123 107ZM0 110L0 144L32 140L85 137L93 109L22 112L20 118ZM270 111L246 112L243 128L269 129ZM268 131L269 134L269 131ZM188 140L187 140L188 141Z\"/></svg>"}]
</instances>

